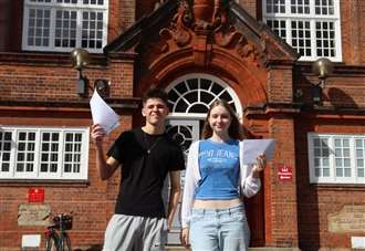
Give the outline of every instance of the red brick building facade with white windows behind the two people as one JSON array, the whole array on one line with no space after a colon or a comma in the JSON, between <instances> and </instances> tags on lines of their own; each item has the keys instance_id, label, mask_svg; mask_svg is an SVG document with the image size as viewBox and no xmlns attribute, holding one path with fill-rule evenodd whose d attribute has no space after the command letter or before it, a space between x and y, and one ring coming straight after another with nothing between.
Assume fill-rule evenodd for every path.
<instances>
[{"instance_id":1,"label":"red brick building facade with white windows behind the two people","mask_svg":"<svg viewBox=\"0 0 365 251\"><path fill-rule=\"evenodd\" d=\"M150 86L168 91L170 126L192 132L181 133L182 147L219 97L252 138L277 139L263 189L247 200L251 247L361 247L364 44L363 0L0 0L0 250L19 250L24 234L44 247L44 222L20 210L34 205L74 212L74 248L103 242L119 175L102 181L95 166L88 101L97 80L121 115L106 146L143 124ZM91 52L82 96L76 46ZM334 64L320 95L319 57ZM29 202L30 188L43 188L44 201Z\"/></svg>"}]
</instances>

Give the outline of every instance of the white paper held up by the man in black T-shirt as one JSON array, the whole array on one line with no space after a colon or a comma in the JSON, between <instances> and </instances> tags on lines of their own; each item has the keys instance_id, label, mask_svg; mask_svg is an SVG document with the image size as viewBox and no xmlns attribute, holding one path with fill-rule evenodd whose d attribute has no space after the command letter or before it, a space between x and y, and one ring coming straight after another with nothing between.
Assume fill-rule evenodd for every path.
<instances>
[{"instance_id":1,"label":"white paper held up by the man in black T-shirt","mask_svg":"<svg viewBox=\"0 0 365 251\"><path fill-rule=\"evenodd\" d=\"M106 134L109 134L114 128L119 126L119 116L105 103L96 90L90 100L90 107L93 123L100 124Z\"/></svg>"}]
</instances>

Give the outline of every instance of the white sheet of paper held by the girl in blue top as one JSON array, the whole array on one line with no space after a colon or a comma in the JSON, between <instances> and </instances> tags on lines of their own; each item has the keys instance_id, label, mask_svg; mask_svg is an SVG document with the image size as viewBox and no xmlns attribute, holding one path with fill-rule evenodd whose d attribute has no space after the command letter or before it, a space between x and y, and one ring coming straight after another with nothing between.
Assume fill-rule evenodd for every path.
<instances>
[{"instance_id":1,"label":"white sheet of paper held by the girl in blue top","mask_svg":"<svg viewBox=\"0 0 365 251\"><path fill-rule=\"evenodd\" d=\"M275 139L244 139L243 140L243 164L251 165L260 155L264 155L267 161L273 157Z\"/></svg>"}]
</instances>

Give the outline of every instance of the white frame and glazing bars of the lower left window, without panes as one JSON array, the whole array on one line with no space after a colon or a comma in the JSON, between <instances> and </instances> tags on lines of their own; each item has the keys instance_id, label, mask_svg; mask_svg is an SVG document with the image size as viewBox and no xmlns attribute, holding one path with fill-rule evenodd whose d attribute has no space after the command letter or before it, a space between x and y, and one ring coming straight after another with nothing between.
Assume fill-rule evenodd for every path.
<instances>
[{"instance_id":1,"label":"white frame and glazing bars of the lower left window, without panes","mask_svg":"<svg viewBox=\"0 0 365 251\"><path fill-rule=\"evenodd\" d=\"M28 127L28 126L2 126L2 133L11 132L11 150L10 150L10 167L9 171L2 171L2 154L3 148L0 148L0 179L32 179L32 180L86 180L88 172L88 142L90 142L90 128L88 127ZM33 164L32 171L17 171L17 154L20 151L19 142L17 139L19 132L32 132L35 133L35 146L34 146L34 159L31 161ZM41 136L42 133L58 133L58 171L51 172L50 170L41 172ZM66 134L81 134L81 149L80 153L80 172L65 172L63 170L65 160L65 135ZM0 138L1 140L1 138ZM71 142L72 144L76 144L79 142ZM28 144L25 144L28 147ZM25 151L27 153L27 151ZM51 154L51 151L45 151ZM79 161L77 161L79 164ZM50 167L49 167L50 168Z\"/></svg>"}]
</instances>

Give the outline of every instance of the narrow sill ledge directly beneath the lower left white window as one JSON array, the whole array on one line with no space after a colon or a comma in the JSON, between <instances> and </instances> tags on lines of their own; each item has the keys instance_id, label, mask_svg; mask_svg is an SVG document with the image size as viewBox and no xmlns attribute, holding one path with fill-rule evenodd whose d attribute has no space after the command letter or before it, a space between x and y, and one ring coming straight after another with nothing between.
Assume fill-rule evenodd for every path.
<instances>
[{"instance_id":1,"label":"narrow sill ledge directly beneath the lower left white window","mask_svg":"<svg viewBox=\"0 0 365 251\"><path fill-rule=\"evenodd\" d=\"M69 179L0 179L0 187L29 187L29 186L46 186L46 187L88 187L87 179L69 180Z\"/></svg>"}]
</instances>

